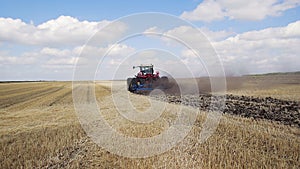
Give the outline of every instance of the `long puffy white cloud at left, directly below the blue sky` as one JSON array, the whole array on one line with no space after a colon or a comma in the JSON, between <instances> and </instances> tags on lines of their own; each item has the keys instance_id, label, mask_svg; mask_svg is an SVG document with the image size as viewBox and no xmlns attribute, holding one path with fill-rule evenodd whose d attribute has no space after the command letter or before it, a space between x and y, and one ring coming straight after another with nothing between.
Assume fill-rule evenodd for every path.
<instances>
[{"instance_id":1,"label":"long puffy white cloud at left, directly below the blue sky","mask_svg":"<svg viewBox=\"0 0 300 169\"><path fill-rule=\"evenodd\" d=\"M0 18L0 42L39 46L77 46L103 28L110 21L79 21L70 16L60 16L40 25L27 24L20 19ZM112 29L115 28L115 29ZM126 29L126 25L115 22L109 30L102 29L97 35L101 39L113 39Z\"/></svg>"}]
</instances>

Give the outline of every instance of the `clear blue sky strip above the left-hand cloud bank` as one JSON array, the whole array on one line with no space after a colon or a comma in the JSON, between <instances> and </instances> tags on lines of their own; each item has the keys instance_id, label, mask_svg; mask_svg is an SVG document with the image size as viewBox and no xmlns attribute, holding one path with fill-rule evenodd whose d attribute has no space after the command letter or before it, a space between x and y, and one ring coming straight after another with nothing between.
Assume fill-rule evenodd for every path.
<instances>
[{"instance_id":1,"label":"clear blue sky strip above the left-hand cloud bank","mask_svg":"<svg viewBox=\"0 0 300 169\"><path fill-rule=\"evenodd\" d=\"M2 17L22 18L25 22L40 24L60 15L76 17L80 20L114 20L124 15L139 12L165 12L180 15L184 10L192 10L197 1L171 0L52 0L52 1L2 1Z\"/></svg>"}]
</instances>

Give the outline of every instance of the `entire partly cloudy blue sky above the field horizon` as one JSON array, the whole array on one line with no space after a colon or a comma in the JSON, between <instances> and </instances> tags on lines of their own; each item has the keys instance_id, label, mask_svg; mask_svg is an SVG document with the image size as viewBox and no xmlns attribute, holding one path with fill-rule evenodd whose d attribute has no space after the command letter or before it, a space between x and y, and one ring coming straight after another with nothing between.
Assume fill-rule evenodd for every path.
<instances>
[{"instance_id":1,"label":"entire partly cloudy blue sky above the field horizon","mask_svg":"<svg viewBox=\"0 0 300 169\"><path fill-rule=\"evenodd\" d=\"M125 79L134 64L150 63L174 77L220 66L227 76L300 71L300 0L0 3L0 81L72 80L82 64L96 66L96 79ZM135 17L145 12L160 14ZM136 30L144 34L116 43Z\"/></svg>"}]
</instances>

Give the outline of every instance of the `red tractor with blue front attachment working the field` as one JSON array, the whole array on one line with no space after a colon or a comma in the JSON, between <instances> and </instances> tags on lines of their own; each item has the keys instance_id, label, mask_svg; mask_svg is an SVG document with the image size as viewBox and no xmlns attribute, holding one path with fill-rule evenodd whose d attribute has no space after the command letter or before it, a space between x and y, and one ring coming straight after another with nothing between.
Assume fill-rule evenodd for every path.
<instances>
[{"instance_id":1,"label":"red tractor with blue front attachment working the field","mask_svg":"<svg viewBox=\"0 0 300 169\"><path fill-rule=\"evenodd\" d=\"M147 93L153 89L165 89L169 80L166 76L160 77L159 72L154 73L153 65L133 66L133 69L140 68L134 78L127 79L128 91L133 93Z\"/></svg>"}]
</instances>

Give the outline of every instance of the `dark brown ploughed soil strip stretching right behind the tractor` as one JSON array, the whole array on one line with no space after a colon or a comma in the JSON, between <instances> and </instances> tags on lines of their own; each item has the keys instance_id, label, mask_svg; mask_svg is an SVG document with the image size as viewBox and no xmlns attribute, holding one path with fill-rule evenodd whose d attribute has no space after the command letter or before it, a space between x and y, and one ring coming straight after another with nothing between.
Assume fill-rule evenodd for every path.
<instances>
[{"instance_id":1,"label":"dark brown ploughed soil strip stretching right behind the tractor","mask_svg":"<svg viewBox=\"0 0 300 169\"><path fill-rule=\"evenodd\" d=\"M197 107L203 111L218 110L226 114L254 119L267 119L286 125L300 127L300 104L296 101L279 100L271 97L226 95L217 98L209 94L152 96L174 104ZM220 102L224 99L224 104Z\"/></svg>"}]
</instances>

